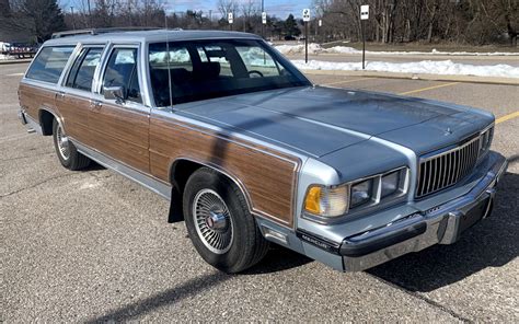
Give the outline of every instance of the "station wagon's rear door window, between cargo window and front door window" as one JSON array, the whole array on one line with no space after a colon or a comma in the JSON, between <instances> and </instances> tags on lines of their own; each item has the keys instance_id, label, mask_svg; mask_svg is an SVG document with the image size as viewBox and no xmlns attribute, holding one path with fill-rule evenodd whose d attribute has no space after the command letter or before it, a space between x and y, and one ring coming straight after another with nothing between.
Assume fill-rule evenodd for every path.
<instances>
[{"instance_id":1,"label":"station wagon's rear door window, between cargo window and front door window","mask_svg":"<svg viewBox=\"0 0 519 324\"><path fill-rule=\"evenodd\" d=\"M95 68L100 62L102 53L102 47L83 48L70 69L66 85L90 91L92 89Z\"/></svg>"}]
</instances>

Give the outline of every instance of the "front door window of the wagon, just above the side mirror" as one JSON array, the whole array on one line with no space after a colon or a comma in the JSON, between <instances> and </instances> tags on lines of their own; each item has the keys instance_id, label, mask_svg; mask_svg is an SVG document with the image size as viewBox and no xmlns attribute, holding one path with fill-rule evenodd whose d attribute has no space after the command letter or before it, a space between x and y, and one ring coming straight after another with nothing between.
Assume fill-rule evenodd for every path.
<instances>
[{"instance_id":1,"label":"front door window of the wagon, just above the side mirror","mask_svg":"<svg viewBox=\"0 0 519 324\"><path fill-rule=\"evenodd\" d=\"M114 48L103 77L105 86L123 86L125 99L142 103L137 67L137 48Z\"/></svg>"}]
</instances>

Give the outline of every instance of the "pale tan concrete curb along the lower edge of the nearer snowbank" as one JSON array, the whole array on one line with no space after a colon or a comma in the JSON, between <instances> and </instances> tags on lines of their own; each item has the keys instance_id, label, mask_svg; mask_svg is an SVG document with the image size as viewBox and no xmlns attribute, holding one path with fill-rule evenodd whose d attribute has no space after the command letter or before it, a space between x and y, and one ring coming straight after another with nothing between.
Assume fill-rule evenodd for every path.
<instances>
[{"instance_id":1,"label":"pale tan concrete curb along the lower edge of the nearer snowbank","mask_svg":"<svg viewBox=\"0 0 519 324\"><path fill-rule=\"evenodd\" d=\"M503 85L519 85L519 78L475 77L475 76L447 76L427 73L394 73L377 71L344 71L344 70L302 70L305 74L324 74L339 77L369 77L384 79L412 79L427 81L451 81L466 83L486 83Z\"/></svg>"}]
</instances>

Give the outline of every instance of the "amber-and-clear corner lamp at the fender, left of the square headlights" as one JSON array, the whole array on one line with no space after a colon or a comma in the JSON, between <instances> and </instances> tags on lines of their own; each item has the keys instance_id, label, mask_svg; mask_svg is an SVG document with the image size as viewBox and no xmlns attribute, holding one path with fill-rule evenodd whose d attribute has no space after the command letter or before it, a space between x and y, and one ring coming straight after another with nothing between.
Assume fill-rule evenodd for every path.
<instances>
[{"instance_id":1,"label":"amber-and-clear corner lamp at the fender, left of the square headlights","mask_svg":"<svg viewBox=\"0 0 519 324\"><path fill-rule=\"evenodd\" d=\"M304 199L304 209L313 215L337 217L348 210L348 186L311 186Z\"/></svg>"}]
</instances>

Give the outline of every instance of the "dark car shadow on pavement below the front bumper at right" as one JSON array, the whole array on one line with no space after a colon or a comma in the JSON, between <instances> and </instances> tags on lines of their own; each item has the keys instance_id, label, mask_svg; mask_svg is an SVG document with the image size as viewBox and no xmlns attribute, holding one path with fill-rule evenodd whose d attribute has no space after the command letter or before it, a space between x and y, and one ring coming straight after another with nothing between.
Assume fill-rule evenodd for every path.
<instances>
[{"instance_id":1,"label":"dark car shadow on pavement below the front bumper at right","mask_svg":"<svg viewBox=\"0 0 519 324\"><path fill-rule=\"evenodd\" d=\"M512 161L509 160L511 163ZM452 245L435 245L367 270L411 291L427 292L519 255L519 174L503 177L492 216Z\"/></svg>"}]
</instances>

